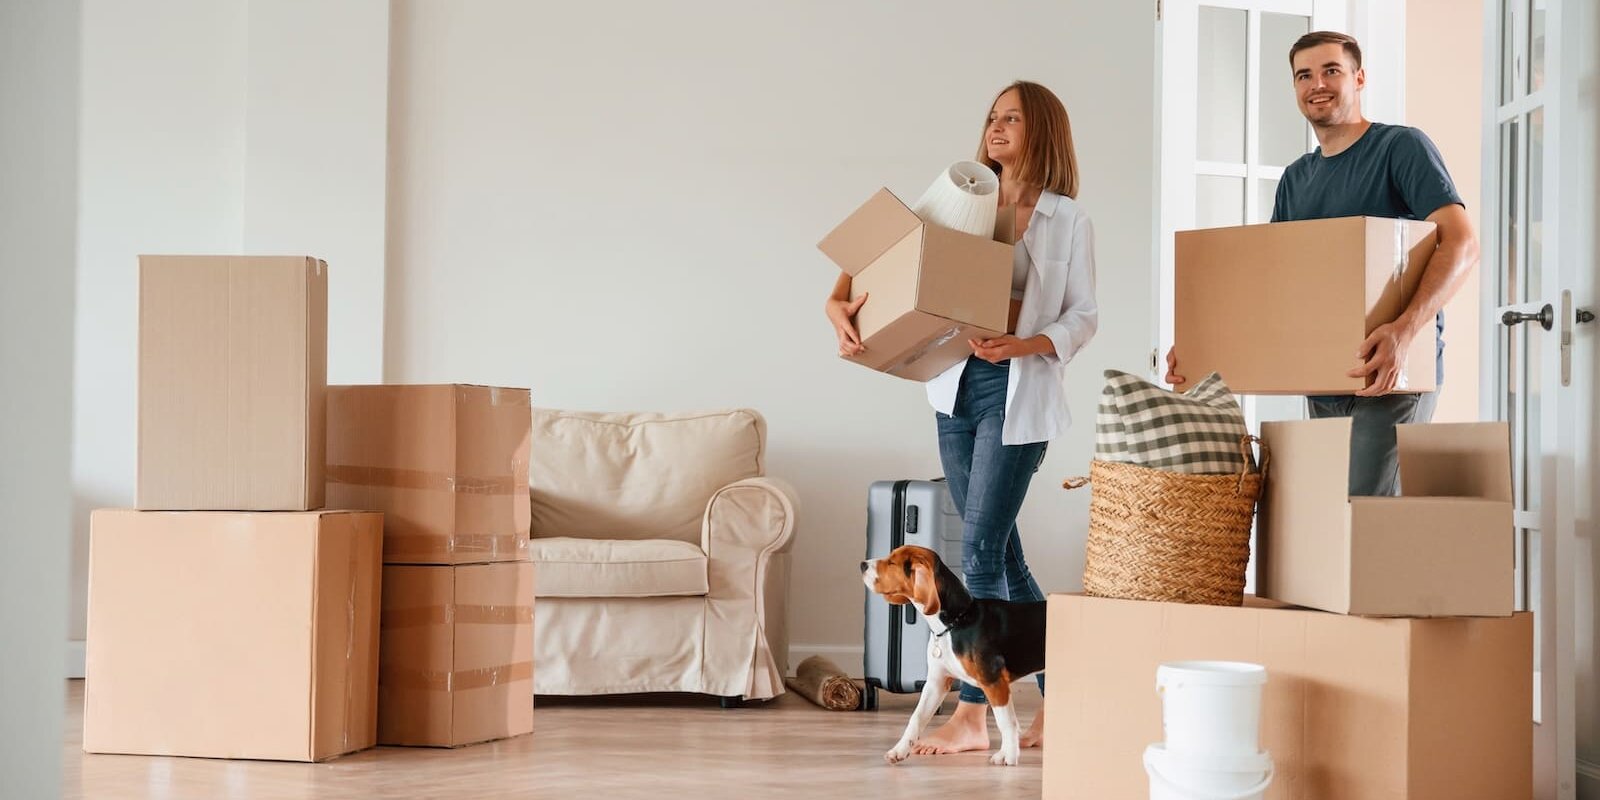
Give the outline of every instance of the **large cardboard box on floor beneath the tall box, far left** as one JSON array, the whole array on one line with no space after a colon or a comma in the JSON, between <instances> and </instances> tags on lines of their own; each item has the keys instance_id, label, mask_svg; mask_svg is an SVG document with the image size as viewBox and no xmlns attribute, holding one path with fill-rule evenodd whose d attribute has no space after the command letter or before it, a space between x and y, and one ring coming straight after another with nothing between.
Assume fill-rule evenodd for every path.
<instances>
[{"instance_id":1,"label":"large cardboard box on floor beneath the tall box, far left","mask_svg":"<svg viewBox=\"0 0 1600 800\"><path fill-rule=\"evenodd\" d=\"M96 510L90 528L86 752L373 746L381 515Z\"/></svg>"}]
</instances>

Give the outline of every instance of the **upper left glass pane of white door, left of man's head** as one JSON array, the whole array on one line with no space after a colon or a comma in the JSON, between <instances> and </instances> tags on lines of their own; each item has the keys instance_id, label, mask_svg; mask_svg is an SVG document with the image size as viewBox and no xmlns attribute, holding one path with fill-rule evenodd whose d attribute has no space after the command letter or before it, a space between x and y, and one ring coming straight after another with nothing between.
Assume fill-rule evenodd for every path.
<instances>
[{"instance_id":1,"label":"upper left glass pane of white door, left of man's head","mask_svg":"<svg viewBox=\"0 0 1600 800\"><path fill-rule=\"evenodd\" d=\"M1245 162L1245 11L1200 6L1195 157Z\"/></svg>"}]
</instances>

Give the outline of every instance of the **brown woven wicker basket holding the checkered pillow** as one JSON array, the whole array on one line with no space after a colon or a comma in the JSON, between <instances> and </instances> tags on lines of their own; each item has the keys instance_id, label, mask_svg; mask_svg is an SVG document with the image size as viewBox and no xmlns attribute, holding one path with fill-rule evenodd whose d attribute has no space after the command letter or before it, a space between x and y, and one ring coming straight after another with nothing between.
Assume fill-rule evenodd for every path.
<instances>
[{"instance_id":1,"label":"brown woven wicker basket holding the checkered pillow","mask_svg":"<svg viewBox=\"0 0 1600 800\"><path fill-rule=\"evenodd\" d=\"M1094 461L1083 590L1098 597L1174 603L1240 605L1250 563L1250 520L1261 496L1261 470L1237 475L1186 475L1138 464Z\"/></svg>"}]
</instances>

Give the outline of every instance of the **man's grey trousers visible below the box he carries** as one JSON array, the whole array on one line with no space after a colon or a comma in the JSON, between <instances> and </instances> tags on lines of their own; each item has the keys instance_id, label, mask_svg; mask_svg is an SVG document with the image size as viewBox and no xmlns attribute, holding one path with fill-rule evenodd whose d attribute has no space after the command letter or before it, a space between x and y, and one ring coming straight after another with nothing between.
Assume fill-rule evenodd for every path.
<instances>
[{"instance_id":1,"label":"man's grey trousers visible below the box he carries","mask_svg":"<svg viewBox=\"0 0 1600 800\"><path fill-rule=\"evenodd\" d=\"M1400 493L1395 426L1432 421L1438 394L1307 397L1306 405L1312 419L1350 418L1350 494L1389 498Z\"/></svg>"}]
</instances>

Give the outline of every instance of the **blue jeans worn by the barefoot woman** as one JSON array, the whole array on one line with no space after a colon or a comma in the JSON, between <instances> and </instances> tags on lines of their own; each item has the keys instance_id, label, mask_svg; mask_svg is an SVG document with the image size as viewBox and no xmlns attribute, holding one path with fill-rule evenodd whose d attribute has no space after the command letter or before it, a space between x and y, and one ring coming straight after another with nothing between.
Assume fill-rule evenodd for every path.
<instances>
[{"instance_id":1,"label":"blue jeans worn by the barefoot woman","mask_svg":"<svg viewBox=\"0 0 1600 800\"><path fill-rule=\"evenodd\" d=\"M1002 445L1010 362L968 358L954 414L936 414L939 461L950 485L950 499L962 514L962 573L973 597L992 600L1043 600L1027 571L1016 514L1027 486L1045 461L1045 442ZM1043 643L1040 643L1043 646ZM1045 677L1038 675L1038 688ZM963 702L986 702L982 690L962 683Z\"/></svg>"}]
</instances>

